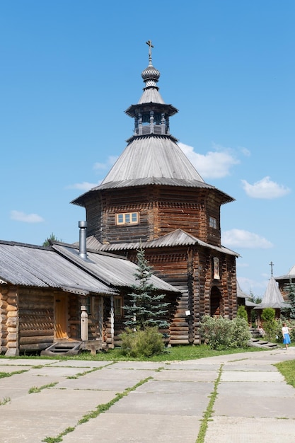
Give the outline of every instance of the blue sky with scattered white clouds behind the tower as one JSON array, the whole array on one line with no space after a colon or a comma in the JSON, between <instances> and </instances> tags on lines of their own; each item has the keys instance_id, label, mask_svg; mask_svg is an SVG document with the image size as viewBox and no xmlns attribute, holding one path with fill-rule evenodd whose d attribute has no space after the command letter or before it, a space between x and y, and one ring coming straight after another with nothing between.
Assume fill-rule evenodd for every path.
<instances>
[{"instance_id":1,"label":"blue sky with scattered white clouds behind the tower","mask_svg":"<svg viewBox=\"0 0 295 443\"><path fill-rule=\"evenodd\" d=\"M74 198L125 149L148 65L170 131L221 208L238 281L261 297L294 253L294 0L0 2L0 238L79 238Z\"/></svg>"}]
</instances>

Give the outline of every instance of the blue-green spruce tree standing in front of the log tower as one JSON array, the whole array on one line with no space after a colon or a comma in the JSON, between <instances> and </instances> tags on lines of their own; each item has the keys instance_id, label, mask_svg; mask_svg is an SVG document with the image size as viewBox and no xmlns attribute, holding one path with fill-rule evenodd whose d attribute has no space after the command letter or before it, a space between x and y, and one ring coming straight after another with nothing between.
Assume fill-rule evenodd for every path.
<instances>
[{"instance_id":1,"label":"blue-green spruce tree standing in front of the log tower","mask_svg":"<svg viewBox=\"0 0 295 443\"><path fill-rule=\"evenodd\" d=\"M134 273L137 284L134 284L133 292L129 294L129 304L123 306L126 318L124 324L127 328L145 330L147 327L165 329L169 326L168 321L163 318L168 312L169 303L163 301L165 294L156 294L156 288L150 282L152 274L144 250L140 248L137 251L137 270Z\"/></svg>"}]
</instances>

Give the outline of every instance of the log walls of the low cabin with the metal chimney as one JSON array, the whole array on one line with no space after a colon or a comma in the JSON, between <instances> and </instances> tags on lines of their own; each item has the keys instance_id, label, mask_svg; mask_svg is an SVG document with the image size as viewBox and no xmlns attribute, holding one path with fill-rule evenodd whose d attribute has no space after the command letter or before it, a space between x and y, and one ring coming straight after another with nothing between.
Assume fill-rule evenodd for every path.
<instances>
[{"instance_id":1,"label":"log walls of the low cabin with the metal chimney","mask_svg":"<svg viewBox=\"0 0 295 443\"><path fill-rule=\"evenodd\" d=\"M0 353L19 355L20 352L40 352L52 345L54 333L53 289L28 287L0 287ZM66 294L68 299L67 335L81 340L81 304L83 299L76 294ZM100 339L98 311L100 297L94 298L93 315L88 316L89 340Z\"/></svg>"}]
</instances>

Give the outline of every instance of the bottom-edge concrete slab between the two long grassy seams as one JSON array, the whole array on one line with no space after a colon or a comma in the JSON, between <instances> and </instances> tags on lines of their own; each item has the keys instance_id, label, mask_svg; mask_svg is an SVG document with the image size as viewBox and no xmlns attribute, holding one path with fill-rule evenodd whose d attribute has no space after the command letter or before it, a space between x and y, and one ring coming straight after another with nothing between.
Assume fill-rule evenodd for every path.
<instances>
[{"instance_id":1,"label":"bottom-edge concrete slab between the two long grassy seams","mask_svg":"<svg viewBox=\"0 0 295 443\"><path fill-rule=\"evenodd\" d=\"M76 427L63 443L195 443L201 417L105 413ZM14 442L13 442L14 443ZM216 443L216 442L215 442Z\"/></svg>"}]
</instances>

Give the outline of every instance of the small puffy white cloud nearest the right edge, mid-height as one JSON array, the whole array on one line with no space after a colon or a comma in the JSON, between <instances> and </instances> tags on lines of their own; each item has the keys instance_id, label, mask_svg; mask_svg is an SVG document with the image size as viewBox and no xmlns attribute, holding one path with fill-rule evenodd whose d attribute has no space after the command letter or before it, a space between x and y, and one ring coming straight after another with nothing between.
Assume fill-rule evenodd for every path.
<instances>
[{"instance_id":1,"label":"small puffy white cloud nearest the right edge, mid-height","mask_svg":"<svg viewBox=\"0 0 295 443\"><path fill-rule=\"evenodd\" d=\"M241 180L241 182L243 183L245 193L253 198L273 199L283 197L291 192L284 185L279 185L270 180L270 177L262 178L262 180L255 182L254 185L250 185L246 180Z\"/></svg>"}]
</instances>

